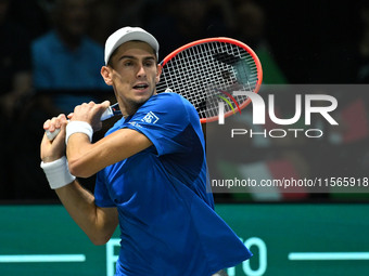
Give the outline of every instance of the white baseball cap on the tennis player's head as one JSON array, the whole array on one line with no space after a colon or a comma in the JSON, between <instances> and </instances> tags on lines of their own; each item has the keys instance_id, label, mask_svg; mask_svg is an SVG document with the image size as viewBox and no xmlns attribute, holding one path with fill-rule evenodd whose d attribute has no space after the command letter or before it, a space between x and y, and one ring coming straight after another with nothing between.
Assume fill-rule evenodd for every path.
<instances>
[{"instance_id":1,"label":"white baseball cap on the tennis player's head","mask_svg":"<svg viewBox=\"0 0 369 276\"><path fill-rule=\"evenodd\" d=\"M115 49L127 41L143 41L151 45L155 53L156 58L158 58L158 43L157 40L148 31L140 27L124 27L115 32L113 32L105 42L105 64L107 64L109 58L111 57L112 53Z\"/></svg>"}]
</instances>

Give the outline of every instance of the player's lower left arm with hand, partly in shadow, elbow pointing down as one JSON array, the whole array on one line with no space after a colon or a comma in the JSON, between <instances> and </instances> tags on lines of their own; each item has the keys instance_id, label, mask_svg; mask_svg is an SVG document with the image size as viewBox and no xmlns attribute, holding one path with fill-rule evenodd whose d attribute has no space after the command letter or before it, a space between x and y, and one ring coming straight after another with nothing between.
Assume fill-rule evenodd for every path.
<instances>
[{"instance_id":1,"label":"player's lower left arm with hand, partly in shadow, elbow pointing down","mask_svg":"<svg viewBox=\"0 0 369 276\"><path fill-rule=\"evenodd\" d=\"M44 135L41 142L41 159L52 162L65 155L65 126L64 115L48 120L43 128L53 131L61 128L61 132L53 141ZM94 205L94 197L82 188L76 180L68 185L55 189L59 198L78 226L96 245L105 244L113 235L117 224L118 214L115 208L100 208Z\"/></svg>"}]
</instances>

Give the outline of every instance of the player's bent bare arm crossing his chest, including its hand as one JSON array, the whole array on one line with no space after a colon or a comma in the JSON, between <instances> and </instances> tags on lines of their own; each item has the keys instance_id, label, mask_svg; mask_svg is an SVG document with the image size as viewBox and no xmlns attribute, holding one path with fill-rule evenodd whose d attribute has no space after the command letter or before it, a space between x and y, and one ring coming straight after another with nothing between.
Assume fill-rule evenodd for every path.
<instances>
[{"instance_id":1,"label":"player's bent bare arm crossing his chest, including its hand","mask_svg":"<svg viewBox=\"0 0 369 276\"><path fill-rule=\"evenodd\" d=\"M86 121L98 129L97 123L107 104L84 104L75 109L71 121ZM101 169L124 160L152 145L152 142L142 133L122 129L104 139L91 144L89 137L84 133L74 133L69 136L66 155L69 162L69 170L73 175L88 178Z\"/></svg>"}]
</instances>

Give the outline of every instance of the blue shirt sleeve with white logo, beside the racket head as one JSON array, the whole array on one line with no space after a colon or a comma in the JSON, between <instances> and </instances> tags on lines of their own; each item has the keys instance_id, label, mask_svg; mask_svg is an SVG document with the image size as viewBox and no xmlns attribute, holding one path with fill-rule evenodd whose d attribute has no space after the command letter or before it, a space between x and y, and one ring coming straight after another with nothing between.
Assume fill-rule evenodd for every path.
<instances>
[{"instance_id":1,"label":"blue shirt sleeve with white logo, beside the racket head","mask_svg":"<svg viewBox=\"0 0 369 276\"><path fill-rule=\"evenodd\" d=\"M186 135L186 129L190 126L188 105L190 104L178 94L154 95L128 122L125 122L124 127L137 130L149 137L160 156L186 153L190 150L192 143Z\"/></svg>"}]
</instances>

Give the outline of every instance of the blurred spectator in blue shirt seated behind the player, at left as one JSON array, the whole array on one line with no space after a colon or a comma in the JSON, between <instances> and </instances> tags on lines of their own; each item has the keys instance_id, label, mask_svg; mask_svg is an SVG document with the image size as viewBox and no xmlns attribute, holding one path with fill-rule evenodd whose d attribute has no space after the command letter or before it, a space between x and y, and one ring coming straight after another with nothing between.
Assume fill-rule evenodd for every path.
<instances>
[{"instance_id":1,"label":"blurred spectator in blue shirt seated behind the player, at left","mask_svg":"<svg viewBox=\"0 0 369 276\"><path fill-rule=\"evenodd\" d=\"M87 36L90 1L40 2L52 25L49 32L31 42L35 96L23 108L20 126L12 131L16 155L9 162L16 175L12 180L16 199L55 198L39 168L38 145L44 120L68 114L84 102L100 102L113 95L100 75L103 48ZM93 180L86 180L86 184L92 185Z\"/></svg>"}]
</instances>

